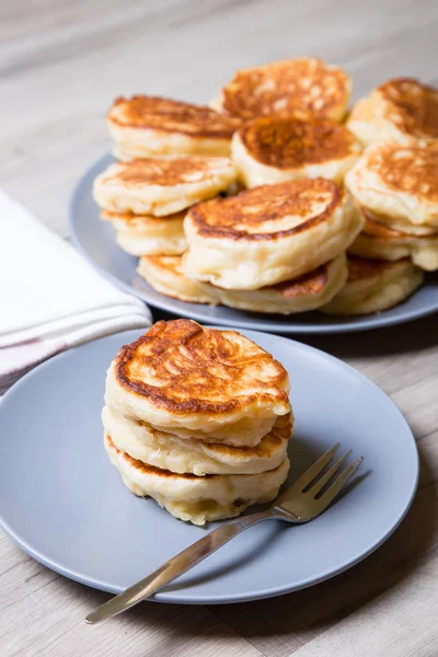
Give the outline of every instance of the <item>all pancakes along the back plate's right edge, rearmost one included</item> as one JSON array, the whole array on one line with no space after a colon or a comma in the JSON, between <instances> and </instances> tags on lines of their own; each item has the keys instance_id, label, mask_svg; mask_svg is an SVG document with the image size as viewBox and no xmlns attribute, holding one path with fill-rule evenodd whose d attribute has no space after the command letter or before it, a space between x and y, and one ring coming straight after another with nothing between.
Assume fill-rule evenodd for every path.
<instances>
[{"instance_id":1,"label":"all pancakes along the back plate's right edge, rearmost one included","mask_svg":"<svg viewBox=\"0 0 438 657\"><path fill-rule=\"evenodd\" d=\"M389 80L354 106L347 126L367 146L345 183L365 219L346 286L324 308L359 314L406 299L438 269L438 91Z\"/></svg>"}]
</instances>

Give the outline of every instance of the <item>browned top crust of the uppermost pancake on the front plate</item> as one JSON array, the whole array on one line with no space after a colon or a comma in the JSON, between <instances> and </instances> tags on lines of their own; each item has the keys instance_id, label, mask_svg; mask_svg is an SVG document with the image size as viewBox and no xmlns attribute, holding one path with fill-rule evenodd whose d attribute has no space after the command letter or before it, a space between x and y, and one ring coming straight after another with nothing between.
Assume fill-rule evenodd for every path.
<instances>
[{"instance_id":1,"label":"browned top crust of the uppermost pancake on the front plate","mask_svg":"<svg viewBox=\"0 0 438 657\"><path fill-rule=\"evenodd\" d=\"M239 334L204 328L191 320L157 322L120 349L117 381L170 412L229 413L255 401L287 405L285 368L249 339L242 350L239 342L230 339L233 335ZM242 395L242 377L246 379L249 369L253 390ZM152 384L142 377L145 370Z\"/></svg>"}]
</instances>

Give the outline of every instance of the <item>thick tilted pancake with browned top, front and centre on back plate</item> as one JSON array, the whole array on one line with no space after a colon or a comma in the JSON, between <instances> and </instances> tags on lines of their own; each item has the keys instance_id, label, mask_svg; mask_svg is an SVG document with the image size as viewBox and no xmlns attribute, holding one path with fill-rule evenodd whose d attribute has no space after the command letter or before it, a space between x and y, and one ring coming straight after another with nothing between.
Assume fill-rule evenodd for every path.
<instances>
[{"instance_id":1,"label":"thick tilted pancake with browned top, front and centre on back plate","mask_svg":"<svg viewBox=\"0 0 438 657\"><path fill-rule=\"evenodd\" d=\"M364 218L351 197L324 178L254 187L187 212L186 276L231 290L255 290L316 269L345 251Z\"/></svg>"}]
</instances>

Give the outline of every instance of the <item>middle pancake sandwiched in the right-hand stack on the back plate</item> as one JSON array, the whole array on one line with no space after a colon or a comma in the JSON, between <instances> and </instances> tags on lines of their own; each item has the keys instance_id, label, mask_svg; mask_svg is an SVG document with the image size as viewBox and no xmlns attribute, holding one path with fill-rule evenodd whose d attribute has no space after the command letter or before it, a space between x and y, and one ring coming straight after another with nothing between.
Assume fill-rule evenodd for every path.
<instances>
[{"instance_id":1,"label":"middle pancake sandwiched in the right-hand stack on the back plate","mask_svg":"<svg viewBox=\"0 0 438 657\"><path fill-rule=\"evenodd\" d=\"M438 231L430 235L413 235L389 228L365 208L361 211L366 218L365 228L348 249L349 253L384 261L411 257L414 265L426 272L438 269Z\"/></svg>"}]
</instances>

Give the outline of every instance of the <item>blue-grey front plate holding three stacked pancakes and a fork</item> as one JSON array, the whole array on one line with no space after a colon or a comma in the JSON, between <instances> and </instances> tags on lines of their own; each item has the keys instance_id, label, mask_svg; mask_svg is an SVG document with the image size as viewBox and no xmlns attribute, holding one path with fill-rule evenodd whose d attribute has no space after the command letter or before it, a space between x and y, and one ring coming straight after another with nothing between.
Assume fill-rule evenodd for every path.
<instances>
[{"instance_id":1,"label":"blue-grey front plate holding three stacked pancakes and a fork","mask_svg":"<svg viewBox=\"0 0 438 657\"><path fill-rule=\"evenodd\" d=\"M308 525L249 529L155 600L255 600L322 581L359 562L397 527L413 499L418 457L388 396L342 361L287 338L244 331L287 368L295 480L334 442L365 461L354 484ZM37 367L0 403L0 521L49 568L120 592L215 527L175 520L122 483L103 449L105 371L138 332L105 337Z\"/></svg>"}]
</instances>

